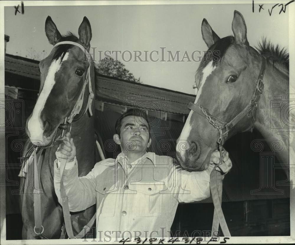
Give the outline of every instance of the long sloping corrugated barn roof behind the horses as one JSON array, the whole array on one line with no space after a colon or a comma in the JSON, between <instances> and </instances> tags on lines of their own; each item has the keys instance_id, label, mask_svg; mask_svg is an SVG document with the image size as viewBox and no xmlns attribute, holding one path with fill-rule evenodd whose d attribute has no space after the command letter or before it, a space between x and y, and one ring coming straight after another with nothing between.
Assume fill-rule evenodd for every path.
<instances>
[{"instance_id":1,"label":"long sloping corrugated barn roof behind the horses","mask_svg":"<svg viewBox=\"0 0 295 245\"><path fill-rule=\"evenodd\" d=\"M5 56L5 72L39 81L40 73L38 64L39 61L20 56L9 54ZM19 83L18 86L26 89L38 89L32 83ZM96 98L103 102L118 105L124 105L127 99L137 100L139 103L141 100L149 100L157 103L164 103L166 101L168 102L166 112L187 115L189 113L187 105L189 102L194 102L195 96L147 84L99 75L96 84Z\"/></svg>"}]
</instances>

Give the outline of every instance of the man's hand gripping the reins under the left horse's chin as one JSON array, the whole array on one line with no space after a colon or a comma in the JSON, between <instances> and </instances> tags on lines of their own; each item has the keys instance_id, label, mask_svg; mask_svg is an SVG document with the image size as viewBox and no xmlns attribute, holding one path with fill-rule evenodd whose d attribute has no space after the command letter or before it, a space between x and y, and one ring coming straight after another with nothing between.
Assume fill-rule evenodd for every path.
<instances>
[{"instance_id":1,"label":"man's hand gripping the reins under the left horse's chin","mask_svg":"<svg viewBox=\"0 0 295 245\"><path fill-rule=\"evenodd\" d=\"M55 156L59 161L60 159L67 159L67 162L71 162L76 156L76 147L70 133L66 133L65 137L65 140L63 140L63 143L60 144L55 152Z\"/></svg>"}]
</instances>

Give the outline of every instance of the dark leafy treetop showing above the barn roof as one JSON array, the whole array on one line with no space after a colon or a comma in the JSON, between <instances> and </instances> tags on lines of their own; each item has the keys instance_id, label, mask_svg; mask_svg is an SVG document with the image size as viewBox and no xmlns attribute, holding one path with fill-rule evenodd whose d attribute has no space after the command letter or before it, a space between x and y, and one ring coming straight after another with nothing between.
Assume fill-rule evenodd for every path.
<instances>
[{"instance_id":1,"label":"dark leafy treetop showing above the barn roof","mask_svg":"<svg viewBox=\"0 0 295 245\"><path fill-rule=\"evenodd\" d=\"M125 68L125 65L121 61L116 61L113 58L105 57L102 61L96 62L95 67L99 74L142 83L140 78L135 78L133 74Z\"/></svg>"}]
</instances>

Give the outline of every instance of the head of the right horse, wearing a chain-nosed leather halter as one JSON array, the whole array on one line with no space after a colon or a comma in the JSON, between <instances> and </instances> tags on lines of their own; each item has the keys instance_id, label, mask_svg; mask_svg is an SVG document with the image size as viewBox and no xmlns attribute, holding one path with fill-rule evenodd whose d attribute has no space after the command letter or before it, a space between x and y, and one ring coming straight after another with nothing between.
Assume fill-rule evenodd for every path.
<instances>
[{"instance_id":1,"label":"head of the right horse, wearing a chain-nosed leather halter","mask_svg":"<svg viewBox=\"0 0 295 245\"><path fill-rule=\"evenodd\" d=\"M220 140L218 125L231 122L249 105L261 66L260 55L250 47L245 20L238 11L232 21L234 36L219 38L206 19L201 31L209 50L197 69L196 99L176 146L181 165L191 171L207 169ZM252 129L253 114L251 110L228 132L222 131L224 138Z\"/></svg>"}]
</instances>

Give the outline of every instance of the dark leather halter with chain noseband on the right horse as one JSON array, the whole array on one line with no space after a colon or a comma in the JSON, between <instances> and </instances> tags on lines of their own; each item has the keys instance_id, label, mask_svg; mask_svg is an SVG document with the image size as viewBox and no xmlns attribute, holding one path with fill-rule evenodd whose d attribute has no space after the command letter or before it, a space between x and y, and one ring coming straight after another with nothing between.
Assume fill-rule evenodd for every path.
<instances>
[{"instance_id":1,"label":"dark leather halter with chain noseband on the right horse","mask_svg":"<svg viewBox=\"0 0 295 245\"><path fill-rule=\"evenodd\" d=\"M223 145L224 140L227 138L229 131L237 125L242 118L247 115L250 117L252 115L253 120L249 128L252 128L256 118L257 118L257 106L258 102L260 100L260 95L263 92L264 88L264 83L263 83L263 76L265 73L265 68L266 68L266 61L263 56L261 56L261 68L260 68L260 73L258 76L258 79L256 81L256 86L253 92L253 96L250 99L249 104L245 107L244 110L242 110L239 114L237 114L230 122L224 122L217 117L214 117L211 115L208 110L204 107L202 107L200 104L194 104L194 103L189 103L188 108L190 110L193 110L194 112L197 112L203 117L206 117L209 120L209 123L214 126L214 128L217 128L220 134L219 139L217 140L217 143L220 145Z\"/></svg>"}]
</instances>

